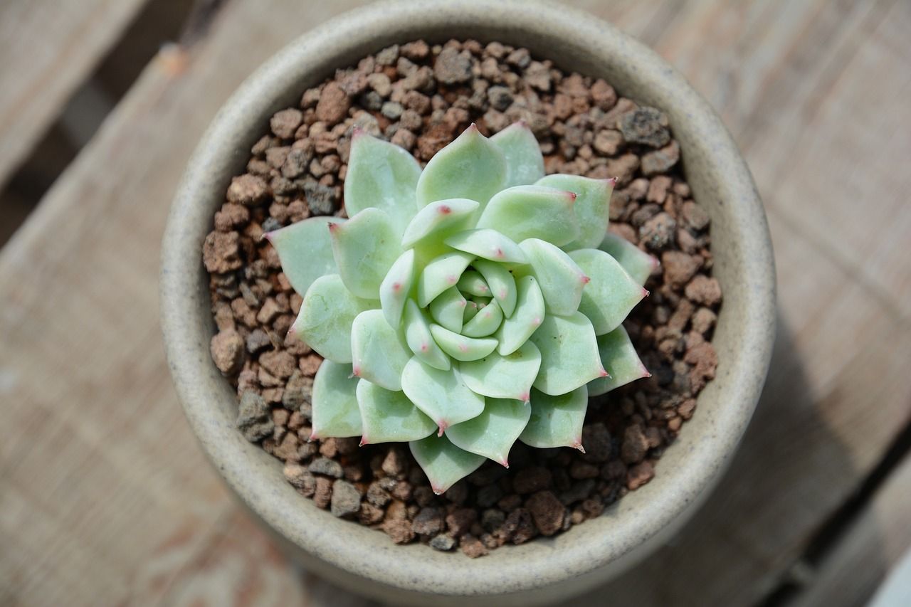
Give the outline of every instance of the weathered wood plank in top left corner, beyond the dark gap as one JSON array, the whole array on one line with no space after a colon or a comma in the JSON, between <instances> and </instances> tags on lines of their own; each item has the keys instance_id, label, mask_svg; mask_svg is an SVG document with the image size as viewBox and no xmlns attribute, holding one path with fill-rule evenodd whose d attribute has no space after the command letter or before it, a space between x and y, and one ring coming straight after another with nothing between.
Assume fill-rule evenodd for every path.
<instances>
[{"instance_id":1,"label":"weathered wood plank in top left corner, beyond the dark gap","mask_svg":"<svg viewBox=\"0 0 911 607\"><path fill-rule=\"evenodd\" d=\"M0 188L146 2L0 3Z\"/></svg>"}]
</instances>

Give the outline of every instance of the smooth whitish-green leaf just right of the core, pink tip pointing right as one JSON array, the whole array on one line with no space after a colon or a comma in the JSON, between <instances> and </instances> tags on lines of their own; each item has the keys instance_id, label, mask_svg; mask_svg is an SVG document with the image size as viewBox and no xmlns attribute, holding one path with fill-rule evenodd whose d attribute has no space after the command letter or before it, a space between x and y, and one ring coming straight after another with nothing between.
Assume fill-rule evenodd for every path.
<instances>
[{"instance_id":1,"label":"smooth whitish-green leaf just right of the core, pink tip pointing right","mask_svg":"<svg viewBox=\"0 0 911 607\"><path fill-rule=\"evenodd\" d=\"M550 242L530 238L519 246L528 256L530 272L541 287L548 314L568 316L576 312L589 277L568 254ZM526 267L521 271L527 272Z\"/></svg>"}]
</instances>

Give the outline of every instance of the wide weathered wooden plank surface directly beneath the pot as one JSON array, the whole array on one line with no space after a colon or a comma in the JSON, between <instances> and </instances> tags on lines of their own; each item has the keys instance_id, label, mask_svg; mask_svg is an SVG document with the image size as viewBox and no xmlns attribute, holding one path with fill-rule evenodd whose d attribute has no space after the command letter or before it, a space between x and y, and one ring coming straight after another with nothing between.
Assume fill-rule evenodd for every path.
<instances>
[{"instance_id":1,"label":"wide weathered wooden plank surface directly beneath the pot","mask_svg":"<svg viewBox=\"0 0 911 607\"><path fill-rule=\"evenodd\" d=\"M0 604L367 604L284 561L221 487L157 309L161 231L201 131L265 57L357 4L231 0L146 68L0 252ZM572 4L719 109L763 195L781 304L763 402L719 488L574 604L863 604L911 543L901 448L844 511L911 421L911 5Z\"/></svg>"}]
</instances>

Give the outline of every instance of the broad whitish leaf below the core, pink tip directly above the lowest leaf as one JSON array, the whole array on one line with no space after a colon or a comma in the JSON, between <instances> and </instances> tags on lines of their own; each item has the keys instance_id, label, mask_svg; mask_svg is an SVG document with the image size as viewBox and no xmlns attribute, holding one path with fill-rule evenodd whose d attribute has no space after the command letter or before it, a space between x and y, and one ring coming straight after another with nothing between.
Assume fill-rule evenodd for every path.
<instances>
[{"instance_id":1,"label":"broad whitish leaf below the core, pink tip directly above the lowest leaf","mask_svg":"<svg viewBox=\"0 0 911 607\"><path fill-rule=\"evenodd\" d=\"M455 367L440 371L412 358L404 365L402 389L435 421L440 435L447 427L477 417L484 410L484 396L469 390Z\"/></svg>"}]
</instances>

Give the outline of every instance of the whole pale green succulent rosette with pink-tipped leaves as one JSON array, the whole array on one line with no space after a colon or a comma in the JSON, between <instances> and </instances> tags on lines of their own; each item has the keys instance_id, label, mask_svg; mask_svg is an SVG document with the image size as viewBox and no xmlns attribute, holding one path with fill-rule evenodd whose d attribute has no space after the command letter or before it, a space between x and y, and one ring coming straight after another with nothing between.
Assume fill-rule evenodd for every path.
<instances>
[{"instance_id":1,"label":"whole pale green succulent rosette with pink-tipped leaves","mask_svg":"<svg viewBox=\"0 0 911 607\"><path fill-rule=\"evenodd\" d=\"M607 232L613 185L545 176L521 123L424 170L355 132L351 219L267 234L326 359L312 437L409 442L437 493L516 440L581 449L589 396L648 376L621 323L656 262Z\"/></svg>"}]
</instances>

